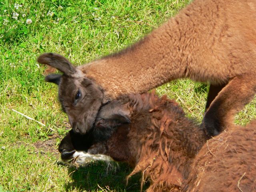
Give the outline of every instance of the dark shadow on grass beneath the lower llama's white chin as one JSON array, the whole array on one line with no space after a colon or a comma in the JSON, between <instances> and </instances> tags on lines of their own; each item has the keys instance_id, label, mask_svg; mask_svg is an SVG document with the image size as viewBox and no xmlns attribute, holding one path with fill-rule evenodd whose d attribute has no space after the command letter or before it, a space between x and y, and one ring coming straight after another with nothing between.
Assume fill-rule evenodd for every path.
<instances>
[{"instance_id":1,"label":"dark shadow on grass beneath the lower llama's white chin","mask_svg":"<svg viewBox=\"0 0 256 192\"><path fill-rule=\"evenodd\" d=\"M132 176L126 185L126 176L132 172L127 164L107 165L104 162L92 162L84 167L69 168L72 182L66 183L66 191L102 191L102 192L140 192L141 174ZM147 182L143 190L148 188Z\"/></svg>"}]
</instances>

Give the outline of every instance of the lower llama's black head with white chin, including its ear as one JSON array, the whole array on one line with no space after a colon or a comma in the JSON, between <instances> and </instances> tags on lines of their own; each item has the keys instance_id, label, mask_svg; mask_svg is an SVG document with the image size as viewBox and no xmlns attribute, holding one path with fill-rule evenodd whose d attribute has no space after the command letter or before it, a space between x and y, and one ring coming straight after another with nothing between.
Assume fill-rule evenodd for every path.
<instances>
[{"instance_id":1,"label":"lower llama's black head with white chin, including its ear","mask_svg":"<svg viewBox=\"0 0 256 192\"><path fill-rule=\"evenodd\" d=\"M75 159L84 164L87 159L102 160L97 155L103 154L117 161L127 161L130 120L128 112L124 112L126 108L126 104L110 102L102 106L95 126L86 134L76 134L70 130L59 146L62 160ZM126 150L119 150L119 147Z\"/></svg>"}]
</instances>

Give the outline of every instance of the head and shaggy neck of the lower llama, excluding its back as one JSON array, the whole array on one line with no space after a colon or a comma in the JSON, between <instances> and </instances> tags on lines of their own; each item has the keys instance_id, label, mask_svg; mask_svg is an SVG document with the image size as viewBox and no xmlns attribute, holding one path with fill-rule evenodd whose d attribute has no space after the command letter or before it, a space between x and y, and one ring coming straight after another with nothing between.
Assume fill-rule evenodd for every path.
<instances>
[{"instance_id":1,"label":"head and shaggy neck of the lower llama, excluding its back","mask_svg":"<svg viewBox=\"0 0 256 192\"><path fill-rule=\"evenodd\" d=\"M134 166L128 177L142 172L142 184L151 181L147 191L180 191L205 142L203 129L173 100L131 94L102 106L95 127L83 136L70 131L59 150L63 160L75 164L127 162Z\"/></svg>"}]
</instances>

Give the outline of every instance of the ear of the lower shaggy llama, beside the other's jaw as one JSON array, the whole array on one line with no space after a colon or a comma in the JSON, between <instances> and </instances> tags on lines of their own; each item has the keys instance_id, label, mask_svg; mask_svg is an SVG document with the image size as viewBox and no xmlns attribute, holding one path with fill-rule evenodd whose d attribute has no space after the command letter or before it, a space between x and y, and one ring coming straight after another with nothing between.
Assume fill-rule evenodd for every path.
<instances>
[{"instance_id":1,"label":"ear of the lower shaggy llama, beside the other's jaw","mask_svg":"<svg viewBox=\"0 0 256 192\"><path fill-rule=\"evenodd\" d=\"M118 102L112 102L100 109L95 126L114 127L130 122L130 110L127 104L118 105Z\"/></svg>"}]
</instances>

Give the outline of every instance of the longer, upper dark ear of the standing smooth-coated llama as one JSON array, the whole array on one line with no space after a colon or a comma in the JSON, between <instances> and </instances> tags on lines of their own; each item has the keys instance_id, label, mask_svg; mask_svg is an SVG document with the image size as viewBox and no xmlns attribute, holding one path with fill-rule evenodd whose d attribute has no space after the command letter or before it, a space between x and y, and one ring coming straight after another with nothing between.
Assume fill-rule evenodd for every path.
<instances>
[{"instance_id":1,"label":"longer, upper dark ear of the standing smooth-coated llama","mask_svg":"<svg viewBox=\"0 0 256 192\"><path fill-rule=\"evenodd\" d=\"M76 68L65 57L55 53L44 53L37 58L40 64L50 65L67 76L72 76L76 72Z\"/></svg>"}]
</instances>

